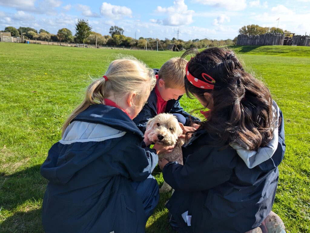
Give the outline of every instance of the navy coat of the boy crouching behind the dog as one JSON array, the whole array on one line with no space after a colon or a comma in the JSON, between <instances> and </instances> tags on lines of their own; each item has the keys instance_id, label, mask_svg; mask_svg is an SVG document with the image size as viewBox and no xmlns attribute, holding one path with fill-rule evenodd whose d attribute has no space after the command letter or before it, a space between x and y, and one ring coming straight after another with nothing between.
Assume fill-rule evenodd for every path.
<instances>
[{"instance_id":1,"label":"navy coat of the boy crouching behind the dog","mask_svg":"<svg viewBox=\"0 0 310 233\"><path fill-rule=\"evenodd\" d=\"M153 69L155 75L158 74L158 69ZM179 96L177 100L172 99L167 101L165 113L178 113L185 117L186 123L185 126L191 125L191 119L193 122L200 122L197 117L192 116L191 114L184 111L184 109L180 106L179 100L182 96ZM133 122L137 125L137 127L141 130L141 132L145 132L146 123L149 119L153 118L157 115L157 96L155 93L155 88L150 93L148 97L147 103L144 105L138 116L133 119Z\"/></svg>"}]
</instances>

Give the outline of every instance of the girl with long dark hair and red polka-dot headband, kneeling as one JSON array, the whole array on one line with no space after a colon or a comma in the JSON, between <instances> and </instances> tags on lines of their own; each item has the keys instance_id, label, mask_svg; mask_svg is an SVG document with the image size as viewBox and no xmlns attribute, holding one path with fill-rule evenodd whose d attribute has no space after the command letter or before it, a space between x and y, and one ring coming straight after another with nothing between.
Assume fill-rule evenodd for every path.
<instances>
[{"instance_id":1,"label":"girl with long dark hair and red polka-dot headband, kneeling","mask_svg":"<svg viewBox=\"0 0 310 233\"><path fill-rule=\"evenodd\" d=\"M232 51L189 50L183 58L193 53L186 93L209 111L182 148L184 165L159 161L175 189L166 206L182 232L263 229L285 152L282 112Z\"/></svg>"}]
</instances>

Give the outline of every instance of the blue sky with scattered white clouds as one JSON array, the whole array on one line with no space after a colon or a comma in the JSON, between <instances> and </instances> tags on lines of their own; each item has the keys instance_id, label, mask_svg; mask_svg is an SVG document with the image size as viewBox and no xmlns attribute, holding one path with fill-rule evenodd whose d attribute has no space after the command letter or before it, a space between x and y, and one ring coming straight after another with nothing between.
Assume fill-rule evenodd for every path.
<instances>
[{"instance_id":1,"label":"blue sky with scattered white clouds","mask_svg":"<svg viewBox=\"0 0 310 233\"><path fill-rule=\"evenodd\" d=\"M309 35L310 0L0 0L0 30L23 26L56 34L69 28L75 34L78 19L87 19L102 35L117 25L137 39L172 39L178 32L185 41L233 39L244 25L277 27L278 22L279 28Z\"/></svg>"}]
</instances>

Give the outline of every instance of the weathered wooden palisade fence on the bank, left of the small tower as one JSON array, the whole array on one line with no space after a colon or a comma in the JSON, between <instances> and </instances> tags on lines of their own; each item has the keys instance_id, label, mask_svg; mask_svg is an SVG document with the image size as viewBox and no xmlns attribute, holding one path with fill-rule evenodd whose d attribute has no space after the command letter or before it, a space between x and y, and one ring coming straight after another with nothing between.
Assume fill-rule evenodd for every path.
<instances>
[{"instance_id":1,"label":"weathered wooden palisade fence on the bank, left of the small tower","mask_svg":"<svg viewBox=\"0 0 310 233\"><path fill-rule=\"evenodd\" d=\"M284 34L266 33L257 36L238 35L237 45L283 45Z\"/></svg>"}]
</instances>

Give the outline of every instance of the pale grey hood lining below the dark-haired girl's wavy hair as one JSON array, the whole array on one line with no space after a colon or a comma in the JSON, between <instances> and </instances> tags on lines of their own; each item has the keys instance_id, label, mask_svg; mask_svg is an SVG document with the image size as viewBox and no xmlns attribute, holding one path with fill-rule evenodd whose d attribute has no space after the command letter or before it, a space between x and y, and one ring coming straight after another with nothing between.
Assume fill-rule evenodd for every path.
<instances>
[{"instance_id":1,"label":"pale grey hood lining below the dark-haired girl's wavy hair","mask_svg":"<svg viewBox=\"0 0 310 233\"><path fill-rule=\"evenodd\" d=\"M250 151L240 145L230 144L230 146L237 151L237 154L245 162L248 168L253 168L265 162L266 160L271 158L272 155L277 150L279 141L278 126L279 126L280 109L275 101L272 101L272 112L273 112L274 130L272 133L272 140L266 146L259 147L257 151Z\"/></svg>"}]
</instances>

